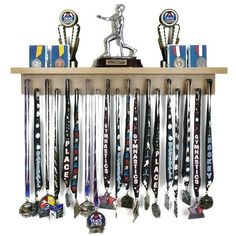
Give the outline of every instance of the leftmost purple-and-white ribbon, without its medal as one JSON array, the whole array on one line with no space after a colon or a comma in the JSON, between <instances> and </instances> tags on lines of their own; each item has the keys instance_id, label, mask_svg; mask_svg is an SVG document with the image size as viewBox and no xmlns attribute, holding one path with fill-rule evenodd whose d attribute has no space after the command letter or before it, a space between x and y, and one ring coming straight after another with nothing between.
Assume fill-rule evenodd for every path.
<instances>
[{"instance_id":1,"label":"leftmost purple-and-white ribbon, without its medal","mask_svg":"<svg viewBox=\"0 0 236 236\"><path fill-rule=\"evenodd\" d=\"M24 81L24 122L25 122L25 197L30 197L29 181L29 103L30 103L30 80Z\"/></svg>"}]
</instances>

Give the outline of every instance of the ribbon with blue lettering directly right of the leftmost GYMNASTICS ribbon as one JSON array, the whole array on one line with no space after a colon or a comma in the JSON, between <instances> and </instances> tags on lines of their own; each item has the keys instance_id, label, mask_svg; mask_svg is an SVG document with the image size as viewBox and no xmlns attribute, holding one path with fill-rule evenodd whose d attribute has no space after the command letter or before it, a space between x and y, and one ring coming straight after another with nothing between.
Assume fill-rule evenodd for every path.
<instances>
[{"instance_id":1,"label":"ribbon with blue lettering directly right of the leftmost GYMNASTICS ribbon","mask_svg":"<svg viewBox=\"0 0 236 236\"><path fill-rule=\"evenodd\" d=\"M121 145L120 145L120 100L119 89L116 89L116 198L120 191L121 181Z\"/></svg>"}]
</instances>

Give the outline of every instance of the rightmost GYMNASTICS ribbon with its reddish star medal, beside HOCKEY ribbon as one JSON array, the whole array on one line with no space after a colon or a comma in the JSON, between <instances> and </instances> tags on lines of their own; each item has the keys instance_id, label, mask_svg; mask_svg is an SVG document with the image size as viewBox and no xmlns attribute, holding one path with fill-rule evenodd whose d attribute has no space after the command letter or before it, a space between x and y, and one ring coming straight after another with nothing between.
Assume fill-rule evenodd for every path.
<instances>
[{"instance_id":1,"label":"rightmost GYMNASTICS ribbon with its reddish star medal, beside HOCKEY ribbon","mask_svg":"<svg viewBox=\"0 0 236 236\"><path fill-rule=\"evenodd\" d=\"M200 176L200 126L201 125L201 89L195 89L195 112L194 112L194 139L193 139L193 188L196 197L195 203L188 208L189 219L203 218L203 209L199 203L199 188L201 186Z\"/></svg>"}]
</instances>

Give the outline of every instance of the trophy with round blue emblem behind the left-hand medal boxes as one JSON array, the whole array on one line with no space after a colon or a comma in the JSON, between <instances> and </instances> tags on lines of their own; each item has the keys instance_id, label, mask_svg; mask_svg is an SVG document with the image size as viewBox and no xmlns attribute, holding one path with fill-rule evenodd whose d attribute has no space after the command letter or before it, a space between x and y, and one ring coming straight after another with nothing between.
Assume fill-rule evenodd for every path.
<instances>
[{"instance_id":1,"label":"trophy with round blue emblem behind the left-hand medal boxes","mask_svg":"<svg viewBox=\"0 0 236 236\"><path fill-rule=\"evenodd\" d=\"M67 32L71 31L71 37L67 37ZM60 25L58 26L59 44L69 45L70 67L77 67L76 52L79 46L80 26L78 16L72 10L64 10L60 15Z\"/></svg>"}]
</instances>

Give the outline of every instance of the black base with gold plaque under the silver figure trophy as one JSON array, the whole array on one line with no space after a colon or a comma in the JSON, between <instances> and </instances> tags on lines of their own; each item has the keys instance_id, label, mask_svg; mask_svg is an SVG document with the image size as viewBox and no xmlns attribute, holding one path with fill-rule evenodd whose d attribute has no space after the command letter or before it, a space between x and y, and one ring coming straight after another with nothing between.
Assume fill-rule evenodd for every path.
<instances>
[{"instance_id":1,"label":"black base with gold plaque under the silver figure trophy","mask_svg":"<svg viewBox=\"0 0 236 236\"><path fill-rule=\"evenodd\" d=\"M143 67L136 57L100 57L94 61L95 67Z\"/></svg>"}]
</instances>

